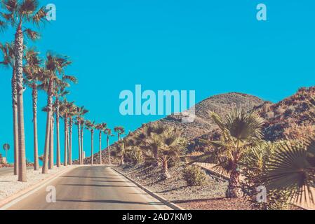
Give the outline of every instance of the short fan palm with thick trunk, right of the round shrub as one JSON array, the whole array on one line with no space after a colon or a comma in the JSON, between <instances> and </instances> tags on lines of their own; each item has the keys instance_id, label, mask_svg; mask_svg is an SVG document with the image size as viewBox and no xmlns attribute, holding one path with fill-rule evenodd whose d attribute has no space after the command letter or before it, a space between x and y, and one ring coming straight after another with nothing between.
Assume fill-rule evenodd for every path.
<instances>
[{"instance_id":1,"label":"short fan palm with thick trunk, right of the round shrub","mask_svg":"<svg viewBox=\"0 0 315 224\"><path fill-rule=\"evenodd\" d=\"M196 160L208 158L217 164L214 169L230 176L227 197L241 197L240 161L249 147L261 143L264 120L256 112L243 109L234 109L224 119L214 112L210 116L220 127L222 137L220 141L206 141L215 149Z\"/></svg>"}]
</instances>

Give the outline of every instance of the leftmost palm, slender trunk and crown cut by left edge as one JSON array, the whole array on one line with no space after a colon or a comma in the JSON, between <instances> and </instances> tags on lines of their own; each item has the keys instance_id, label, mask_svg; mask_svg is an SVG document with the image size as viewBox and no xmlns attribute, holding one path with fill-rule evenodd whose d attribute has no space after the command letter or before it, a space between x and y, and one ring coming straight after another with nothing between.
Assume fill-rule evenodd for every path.
<instances>
[{"instance_id":1,"label":"leftmost palm, slender trunk and crown cut by left edge","mask_svg":"<svg viewBox=\"0 0 315 224\"><path fill-rule=\"evenodd\" d=\"M1 27L1 25L0 25ZM12 87L12 108L13 108L13 138L14 138L14 175L18 175L18 88L17 88L17 80L16 73L14 69L14 50L13 44L11 43L0 43L0 50L3 54L3 61L0 64L8 67L10 66L12 69L12 79L11 79L11 87Z\"/></svg>"}]
</instances>

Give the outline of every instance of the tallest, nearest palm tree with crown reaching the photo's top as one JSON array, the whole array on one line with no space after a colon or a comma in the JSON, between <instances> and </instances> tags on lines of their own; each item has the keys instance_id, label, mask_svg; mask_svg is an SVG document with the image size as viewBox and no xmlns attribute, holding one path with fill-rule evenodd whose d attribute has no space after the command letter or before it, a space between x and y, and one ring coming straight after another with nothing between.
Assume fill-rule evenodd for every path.
<instances>
[{"instance_id":1,"label":"tallest, nearest palm tree with crown reaching the photo's top","mask_svg":"<svg viewBox=\"0 0 315 224\"><path fill-rule=\"evenodd\" d=\"M1 0L6 13L1 13L4 21L0 22L1 28L11 25L15 29L14 41L14 69L17 77L18 89L18 139L19 139L19 177L18 181L26 182L26 158L25 158L25 127L24 127L24 104L23 104L23 52L24 34L31 40L39 38L39 34L32 29L22 29L25 23L32 22L39 25L46 20L45 8L39 8L36 0ZM38 9L39 8L39 9Z\"/></svg>"}]
</instances>

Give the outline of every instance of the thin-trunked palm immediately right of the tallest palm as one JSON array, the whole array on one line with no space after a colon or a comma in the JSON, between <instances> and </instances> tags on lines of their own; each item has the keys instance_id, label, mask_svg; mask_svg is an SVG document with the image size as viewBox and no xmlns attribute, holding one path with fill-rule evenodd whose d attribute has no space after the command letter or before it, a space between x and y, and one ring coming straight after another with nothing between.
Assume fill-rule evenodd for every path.
<instances>
[{"instance_id":1,"label":"thin-trunked palm immediately right of the tallest palm","mask_svg":"<svg viewBox=\"0 0 315 224\"><path fill-rule=\"evenodd\" d=\"M37 137L37 99L38 99L38 83L42 78L41 58L39 52L34 49L27 50L25 54L27 64L24 67L25 84L32 88L33 100L33 128L34 128L34 170L39 169L38 155L38 137Z\"/></svg>"}]
</instances>

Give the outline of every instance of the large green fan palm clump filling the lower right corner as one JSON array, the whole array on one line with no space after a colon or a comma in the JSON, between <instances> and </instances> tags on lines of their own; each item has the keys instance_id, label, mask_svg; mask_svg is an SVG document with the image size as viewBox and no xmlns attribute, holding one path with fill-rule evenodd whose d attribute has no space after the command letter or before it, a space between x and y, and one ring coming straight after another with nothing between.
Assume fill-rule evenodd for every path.
<instances>
[{"instance_id":1,"label":"large green fan palm clump filling the lower right corner","mask_svg":"<svg viewBox=\"0 0 315 224\"><path fill-rule=\"evenodd\" d=\"M242 161L248 194L258 209L287 209L288 204L315 204L315 140L264 143L248 150ZM267 202L255 201L265 186Z\"/></svg>"}]
</instances>

